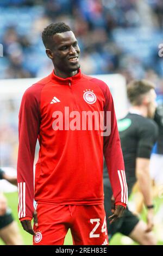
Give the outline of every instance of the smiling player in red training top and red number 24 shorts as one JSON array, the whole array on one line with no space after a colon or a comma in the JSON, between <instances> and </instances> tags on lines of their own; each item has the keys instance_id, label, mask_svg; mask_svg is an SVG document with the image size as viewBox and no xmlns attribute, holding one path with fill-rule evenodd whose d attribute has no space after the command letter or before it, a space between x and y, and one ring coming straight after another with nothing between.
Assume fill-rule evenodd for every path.
<instances>
[{"instance_id":1,"label":"smiling player in red training top and red number 24 shorts","mask_svg":"<svg viewBox=\"0 0 163 256\"><path fill-rule=\"evenodd\" d=\"M112 97L104 82L81 73L80 50L70 27L62 22L51 24L43 31L42 40L54 70L27 89L21 103L18 215L23 229L34 235L34 245L63 245L69 228L74 245L107 245L103 150L116 204L111 219L121 217L127 204L127 193L121 197L118 176L118 170L122 170L127 191ZM100 114L101 118L101 112L106 133L103 127L91 129L90 119L88 124L83 122L86 113L93 113L98 126L96 117ZM106 125L108 113L110 134L109 124ZM37 138L40 151L33 188Z\"/></svg>"}]
</instances>

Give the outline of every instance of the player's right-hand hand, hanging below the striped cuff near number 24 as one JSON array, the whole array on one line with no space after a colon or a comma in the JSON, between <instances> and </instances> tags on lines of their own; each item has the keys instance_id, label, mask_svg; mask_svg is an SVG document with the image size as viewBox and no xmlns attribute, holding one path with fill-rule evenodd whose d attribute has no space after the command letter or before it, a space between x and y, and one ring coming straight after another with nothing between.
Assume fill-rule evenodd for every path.
<instances>
[{"instance_id":1,"label":"player's right-hand hand, hanging below the striped cuff near number 24","mask_svg":"<svg viewBox=\"0 0 163 256\"><path fill-rule=\"evenodd\" d=\"M122 205L115 205L114 197L111 197L111 212L113 215L109 217L110 224L115 222L118 218L121 218L125 208Z\"/></svg>"}]
</instances>

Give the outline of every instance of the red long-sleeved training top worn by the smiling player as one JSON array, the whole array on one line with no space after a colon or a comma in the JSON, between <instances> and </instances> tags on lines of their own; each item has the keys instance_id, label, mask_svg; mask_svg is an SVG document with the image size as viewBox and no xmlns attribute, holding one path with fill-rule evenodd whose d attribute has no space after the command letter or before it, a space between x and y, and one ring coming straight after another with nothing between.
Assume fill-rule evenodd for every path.
<instances>
[{"instance_id":1,"label":"red long-sleeved training top worn by the smiling player","mask_svg":"<svg viewBox=\"0 0 163 256\"><path fill-rule=\"evenodd\" d=\"M96 102L84 100L84 92L96 95ZM59 102L53 103L53 97ZM52 103L51 103L52 102ZM111 111L111 134L101 136L99 130L54 131L55 111ZM33 162L36 140L39 139L39 160ZM37 203L96 205L103 204L103 150L115 202L123 202L117 170L124 170L114 104L108 86L101 80L82 75L66 79L52 72L29 87L23 95L19 114L19 150L17 179L19 217L33 216L33 199ZM104 142L104 143L103 143ZM35 191L35 192L34 192Z\"/></svg>"}]
</instances>

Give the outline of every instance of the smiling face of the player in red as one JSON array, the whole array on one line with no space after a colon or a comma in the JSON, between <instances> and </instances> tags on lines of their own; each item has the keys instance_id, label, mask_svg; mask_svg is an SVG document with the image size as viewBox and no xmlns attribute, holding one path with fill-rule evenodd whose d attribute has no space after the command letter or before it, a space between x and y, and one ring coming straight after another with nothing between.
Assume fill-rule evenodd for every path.
<instances>
[{"instance_id":1,"label":"smiling face of the player in red","mask_svg":"<svg viewBox=\"0 0 163 256\"><path fill-rule=\"evenodd\" d=\"M54 68L60 72L70 74L80 68L80 49L72 31L53 35L51 54Z\"/></svg>"}]
</instances>

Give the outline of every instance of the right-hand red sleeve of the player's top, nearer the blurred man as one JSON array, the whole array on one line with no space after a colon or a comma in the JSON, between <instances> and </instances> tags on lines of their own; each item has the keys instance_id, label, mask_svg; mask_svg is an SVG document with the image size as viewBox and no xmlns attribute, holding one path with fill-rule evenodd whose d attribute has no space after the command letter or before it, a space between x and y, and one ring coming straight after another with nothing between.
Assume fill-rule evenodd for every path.
<instances>
[{"instance_id":1,"label":"right-hand red sleeve of the player's top, nearer the blurred man","mask_svg":"<svg viewBox=\"0 0 163 256\"><path fill-rule=\"evenodd\" d=\"M124 172L124 161L121 149L120 137L117 129L117 120L114 109L114 102L108 86L105 87L104 117L105 126L110 135L104 136L104 157L108 168L111 187L116 204L126 205L128 202L128 188ZM110 112L111 120L106 121L106 112Z\"/></svg>"}]
</instances>

